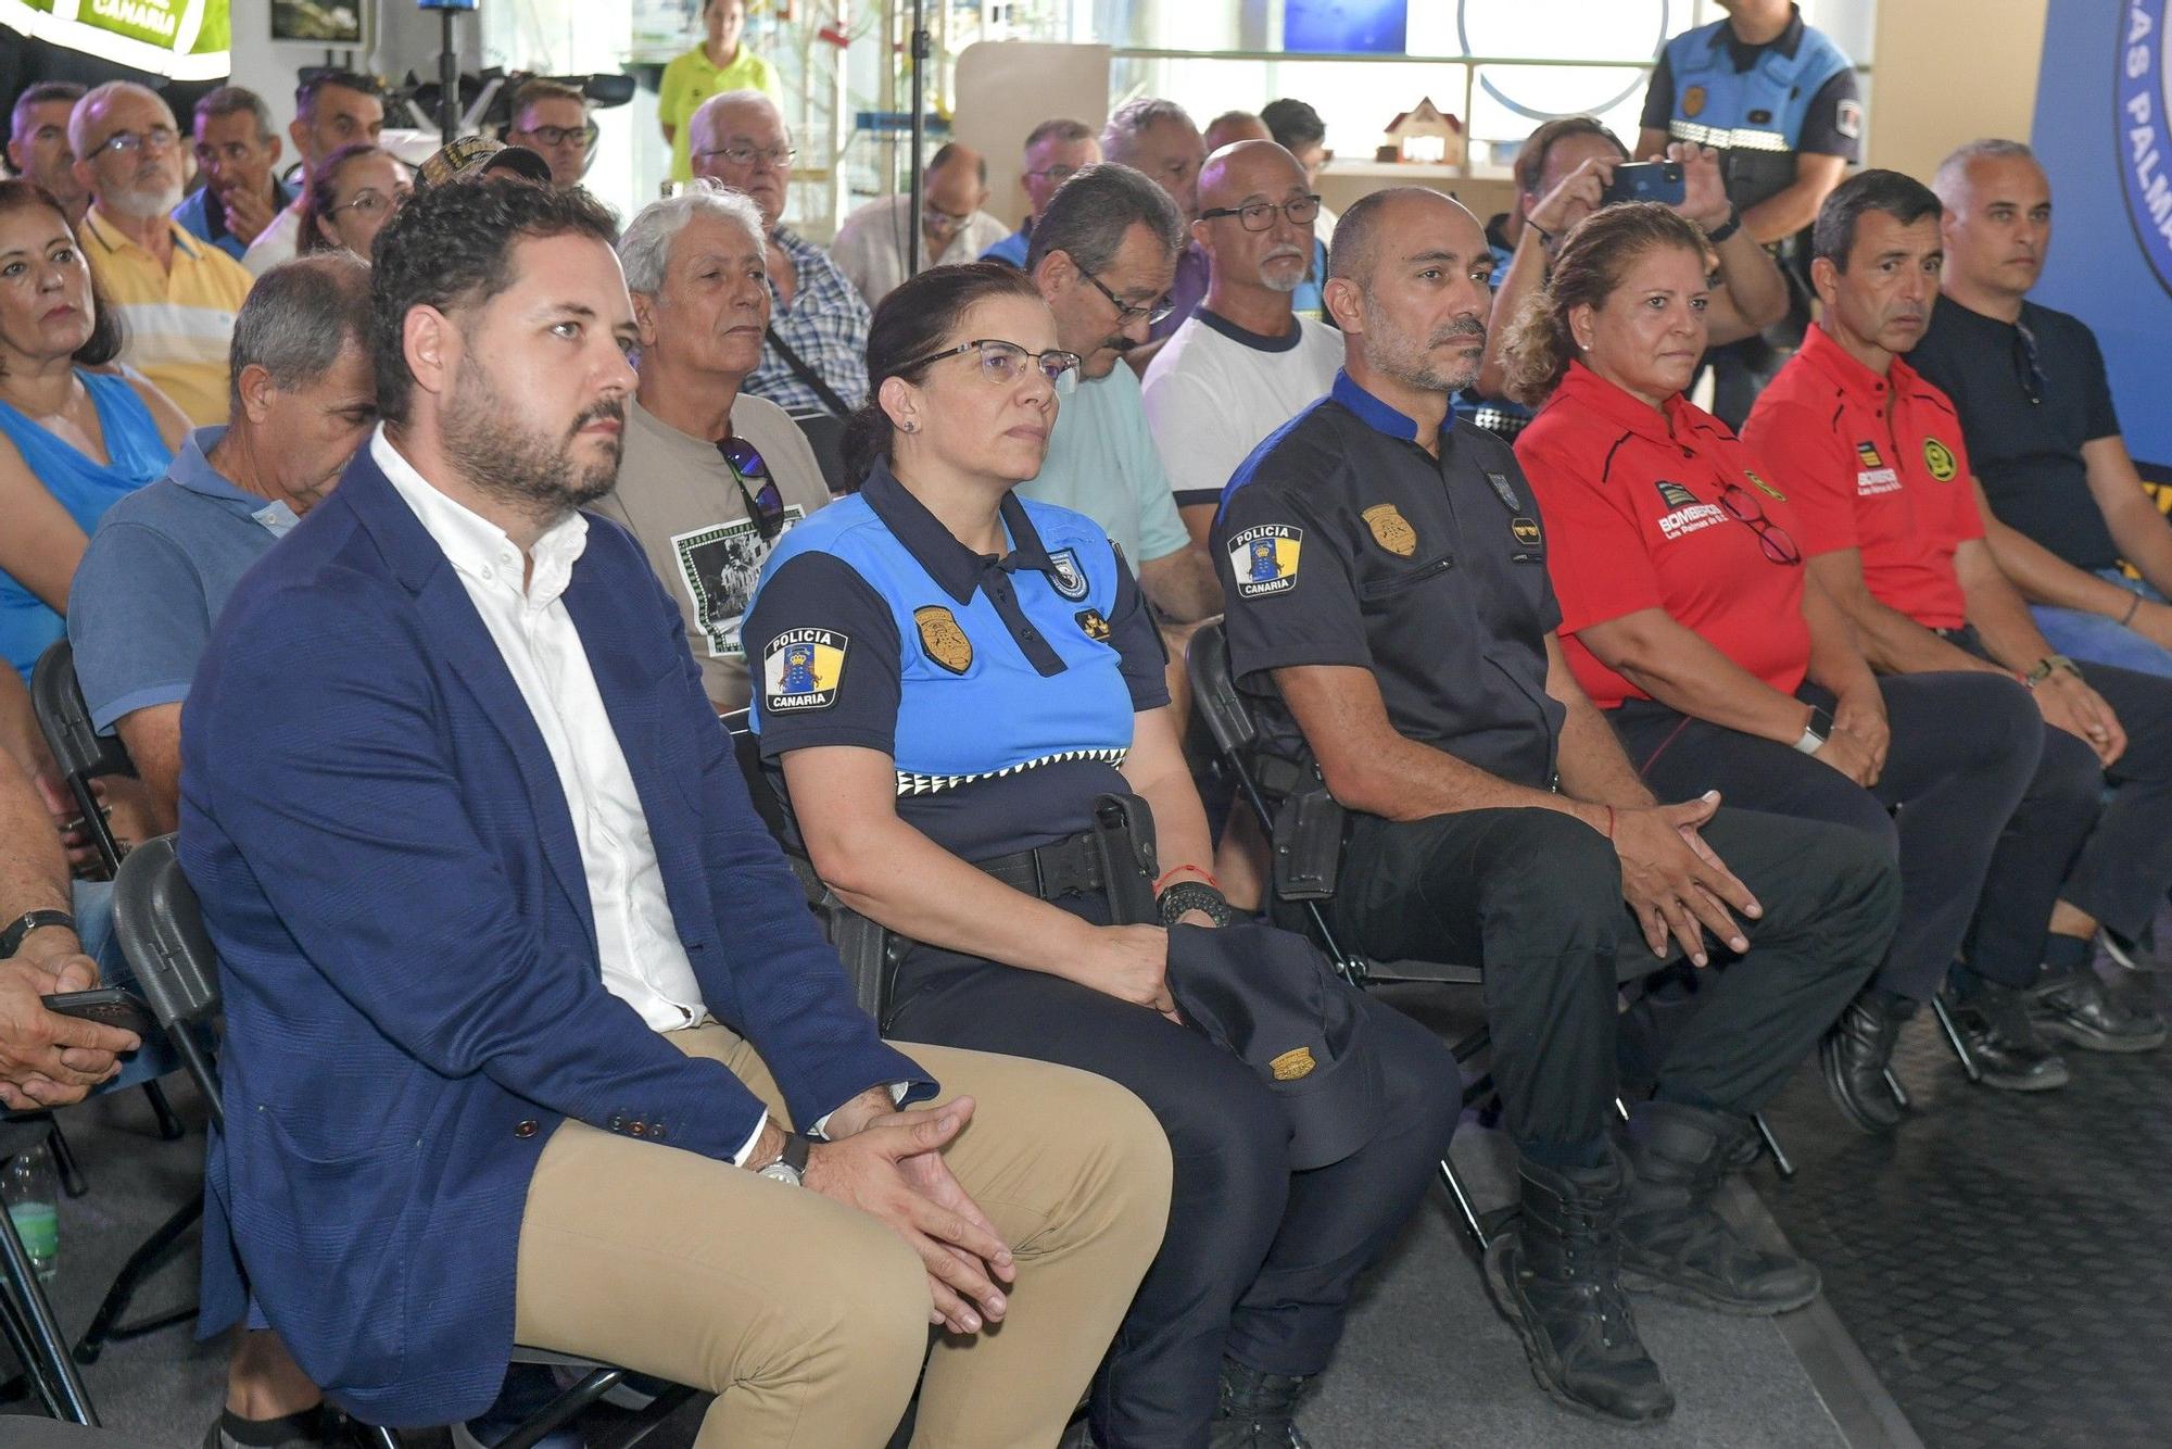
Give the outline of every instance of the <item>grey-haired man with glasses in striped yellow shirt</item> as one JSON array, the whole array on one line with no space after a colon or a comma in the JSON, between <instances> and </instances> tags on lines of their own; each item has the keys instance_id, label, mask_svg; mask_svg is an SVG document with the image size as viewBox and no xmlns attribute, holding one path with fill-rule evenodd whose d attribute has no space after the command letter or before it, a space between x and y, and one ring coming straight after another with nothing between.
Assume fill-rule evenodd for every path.
<instances>
[{"instance_id":1,"label":"grey-haired man with glasses in striped yellow shirt","mask_svg":"<svg viewBox=\"0 0 2172 1449\"><path fill-rule=\"evenodd\" d=\"M226 350L254 280L167 213L180 204L180 128L165 100L109 80L67 117L76 178L91 191L83 254L122 322L119 361L200 428L226 421Z\"/></svg>"}]
</instances>

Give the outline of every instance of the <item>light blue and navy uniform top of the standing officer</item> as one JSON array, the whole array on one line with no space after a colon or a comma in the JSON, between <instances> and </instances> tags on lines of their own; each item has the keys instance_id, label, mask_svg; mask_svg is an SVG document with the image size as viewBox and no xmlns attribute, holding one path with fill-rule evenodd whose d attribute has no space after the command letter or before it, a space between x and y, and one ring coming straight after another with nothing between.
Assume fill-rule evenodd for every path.
<instances>
[{"instance_id":1,"label":"light blue and navy uniform top of the standing officer","mask_svg":"<svg viewBox=\"0 0 2172 1449\"><path fill-rule=\"evenodd\" d=\"M1716 20L1659 52L1642 124L1720 150L1727 196L1748 211L1794 182L1798 152L1861 161L1864 102L1855 63L1794 17L1764 46Z\"/></svg>"}]
</instances>

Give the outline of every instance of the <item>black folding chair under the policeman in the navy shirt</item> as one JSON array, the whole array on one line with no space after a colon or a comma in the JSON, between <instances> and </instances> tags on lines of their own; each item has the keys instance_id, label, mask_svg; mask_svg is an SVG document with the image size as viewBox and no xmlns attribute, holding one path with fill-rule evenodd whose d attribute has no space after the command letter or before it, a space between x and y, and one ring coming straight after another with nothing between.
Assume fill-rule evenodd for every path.
<instances>
[{"instance_id":1,"label":"black folding chair under the policeman in the navy shirt","mask_svg":"<svg viewBox=\"0 0 2172 1449\"><path fill-rule=\"evenodd\" d=\"M1214 739L1214 749L1221 754L1223 767L1229 769L1236 780L1238 793L1251 808L1253 817L1260 821L1260 832L1273 841L1275 839L1275 808L1266 793L1260 789L1255 773L1255 749L1260 743L1260 728L1251 717L1251 706L1245 704L1245 695L1236 689L1236 678L1229 673L1229 641L1223 632L1223 621L1212 619L1201 623L1190 639L1184 656L1184 671L1192 684L1192 708L1199 719L1208 726L1208 734ZM1394 960L1375 962L1358 952L1344 949L1336 938L1336 932L1327 925L1327 912L1321 899L1301 902L1305 915L1305 928L1318 941L1321 949L1336 962L1336 969L1355 986L1384 986L1401 982L1436 982L1451 986L1479 986L1486 980L1483 967L1466 967L1453 962L1416 962L1416 960ZM1616 967L1616 982L1627 986L1631 982L1644 980L1659 969L1655 962L1646 962L1640 952L1625 952L1622 962ZM1468 1062L1492 1041L1490 1030L1479 1025L1475 1032L1457 1043L1451 1043L1457 1062ZM1473 1101L1490 1095L1490 1082L1479 1078L1464 1088L1464 1099ZM1629 1117L1629 1108L1616 1097L1614 1110L1620 1117ZM1755 1114L1751 1121L1757 1123L1757 1134L1764 1138L1766 1149L1772 1154L1772 1167L1781 1177L1794 1175L1794 1162L1781 1149L1779 1138L1766 1123L1764 1114ZM1479 1251L1486 1249L1486 1230L1479 1223L1477 1212L1470 1208L1470 1197L1462 1182L1455 1177L1455 1164L1447 1158L1440 1160L1440 1180L1455 1199L1455 1208L1464 1219L1464 1230L1477 1240Z\"/></svg>"}]
</instances>

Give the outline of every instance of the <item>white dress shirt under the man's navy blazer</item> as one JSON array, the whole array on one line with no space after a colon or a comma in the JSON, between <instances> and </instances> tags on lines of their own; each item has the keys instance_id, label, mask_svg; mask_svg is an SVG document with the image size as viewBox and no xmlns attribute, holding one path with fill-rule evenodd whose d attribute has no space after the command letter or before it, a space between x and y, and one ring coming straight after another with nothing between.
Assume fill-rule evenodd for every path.
<instances>
[{"instance_id":1,"label":"white dress shirt under the man's navy blazer","mask_svg":"<svg viewBox=\"0 0 2172 1449\"><path fill-rule=\"evenodd\" d=\"M604 988L658 1032L706 1021L702 984L671 921L634 776L563 600L573 563L589 545L589 519L573 513L552 524L530 550L528 569L519 545L497 524L430 487L382 426L369 439L369 456L445 550L543 734L580 841ZM754 1149L767 1123L765 1114L736 1162Z\"/></svg>"}]
</instances>

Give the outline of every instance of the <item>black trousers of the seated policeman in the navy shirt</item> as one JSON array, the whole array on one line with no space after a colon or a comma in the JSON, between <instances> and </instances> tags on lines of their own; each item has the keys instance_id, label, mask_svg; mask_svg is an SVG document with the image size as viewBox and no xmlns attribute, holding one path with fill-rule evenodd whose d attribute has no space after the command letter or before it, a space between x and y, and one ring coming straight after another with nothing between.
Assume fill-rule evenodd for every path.
<instances>
[{"instance_id":1,"label":"black trousers of the seated policeman in the navy shirt","mask_svg":"<svg viewBox=\"0 0 2172 1449\"><path fill-rule=\"evenodd\" d=\"M1755 1112L1877 969L1901 891L1853 830L1720 810L1703 834L1764 919L1742 921L1742 960L1707 973L1657 1095ZM1651 954L1603 834L1555 810L1353 817L1331 925L1368 956L1483 965L1510 1136L1538 1160L1588 1160L1616 1095L1616 960Z\"/></svg>"}]
</instances>

